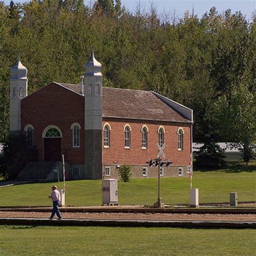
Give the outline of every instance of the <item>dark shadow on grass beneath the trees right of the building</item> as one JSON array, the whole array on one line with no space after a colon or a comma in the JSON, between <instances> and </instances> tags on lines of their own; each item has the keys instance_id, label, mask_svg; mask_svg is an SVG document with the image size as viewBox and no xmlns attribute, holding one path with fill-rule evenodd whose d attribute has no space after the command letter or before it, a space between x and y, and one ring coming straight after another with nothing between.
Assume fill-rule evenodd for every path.
<instances>
[{"instance_id":1,"label":"dark shadow on grass beneath the trees right of the building","mask_svg":"<svg viewBox=\"0 0 256 256\"><path fill-rule=\"evenodd\" d=\"M241 172L256 172L256 161L251 161L246 165L244 162L241 161L234 161L234 162L227 162L224 167L221 169L203 169L195 167L195 171L198 172L226 172L226 173L241 173Z\"/></svg>"}]
</instances>

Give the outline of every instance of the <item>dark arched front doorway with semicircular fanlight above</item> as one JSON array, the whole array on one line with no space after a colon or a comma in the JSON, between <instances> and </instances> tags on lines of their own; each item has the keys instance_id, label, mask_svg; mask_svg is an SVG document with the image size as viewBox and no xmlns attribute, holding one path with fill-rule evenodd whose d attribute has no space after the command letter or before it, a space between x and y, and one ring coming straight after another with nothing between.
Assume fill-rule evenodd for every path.
<instances>
[{"instance_id":1,"label":"dark arched front doorway with semicircular fanlight above","mask_svg":"<svg viewBox=\"0 0 256 256\"><path fill-rule=\"evenodd\" d=\"M62 158L62 132L57 126L48 126L43 131L44 160L60 161Z\"/></svg>"}]
</instances>

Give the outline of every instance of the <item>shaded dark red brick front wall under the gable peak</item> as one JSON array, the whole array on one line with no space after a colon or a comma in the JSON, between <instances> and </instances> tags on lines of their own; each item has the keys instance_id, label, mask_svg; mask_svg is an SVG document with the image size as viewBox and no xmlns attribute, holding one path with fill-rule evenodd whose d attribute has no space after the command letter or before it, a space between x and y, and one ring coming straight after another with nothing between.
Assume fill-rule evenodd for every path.
<instances>
[{"instance_id":1,"label":"shaded dark red brick front wall under the gable peak","mask_svg":"<svg viewBox=\"0 0 256 256\"><path fill-rule=\"evenodd\" d=\"M49 125L56 125L62 131L62 150L66 151L69 164L84 164L84 97L54 83L24 98L21 102L22 131L28 124L35 129L35 146L38 160L44 160L44 139L42 133ZM80 147L72 147L70 126L79 123Z\"/></svg>"}]
</instances>

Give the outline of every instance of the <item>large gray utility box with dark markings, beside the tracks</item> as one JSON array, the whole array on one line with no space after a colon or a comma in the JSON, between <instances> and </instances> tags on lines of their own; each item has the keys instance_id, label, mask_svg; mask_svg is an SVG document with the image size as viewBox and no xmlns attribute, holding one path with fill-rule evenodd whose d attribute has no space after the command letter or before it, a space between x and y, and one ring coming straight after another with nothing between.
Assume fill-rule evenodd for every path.
<instances>
[{"instance_id":1,"label":"large gray utility box with dark markings, beside the tracks","mask_svg":"<svg viewBox=\"0 0 256 256\"><path fill-rule=\"evenodd\" d=\"M117 179L102 180L102 203L118 205Z\"/></svg>"}]
</instances>

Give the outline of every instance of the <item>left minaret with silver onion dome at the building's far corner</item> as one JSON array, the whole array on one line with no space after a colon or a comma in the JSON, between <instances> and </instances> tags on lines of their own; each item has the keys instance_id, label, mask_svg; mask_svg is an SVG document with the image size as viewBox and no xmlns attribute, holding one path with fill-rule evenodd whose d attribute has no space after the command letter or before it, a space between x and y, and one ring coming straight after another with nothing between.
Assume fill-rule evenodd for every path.
<instances>
[{"instance_id":1,"label":"left minaret with silver onion dome at the building's far corner","mask_svg":"<svg viewBox=\"0 0 256 256\"><path fill-rule=\"evenodd\" d=\"M28 95L28 70L21 63L18 55L17 62L11 67L10 79L10 133L21 131L21 100Z\"/></svg>"}]
</instances>

